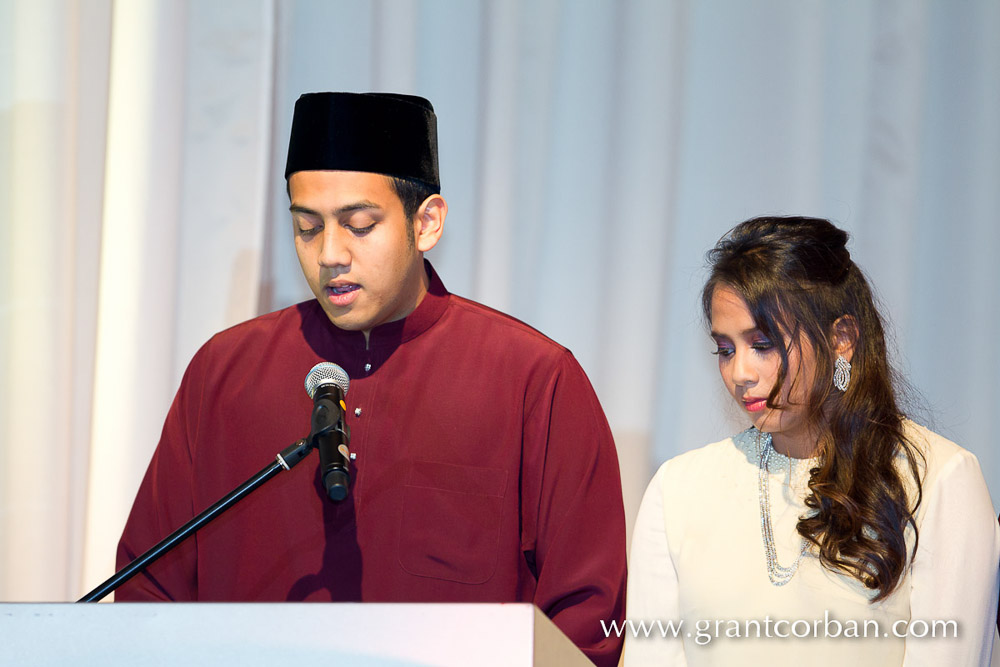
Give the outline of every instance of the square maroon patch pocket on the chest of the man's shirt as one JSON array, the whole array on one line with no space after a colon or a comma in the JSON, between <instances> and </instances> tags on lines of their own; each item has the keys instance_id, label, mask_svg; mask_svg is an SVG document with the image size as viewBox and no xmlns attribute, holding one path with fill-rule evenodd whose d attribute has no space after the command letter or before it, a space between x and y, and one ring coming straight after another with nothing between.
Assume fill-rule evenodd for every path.
<instances>
[{"instance_id":1,"label":"square maroon patch pocket on the chest of the man's shirt","mask_svg":"<svg viewBox=\"0 0 1000 667\"><path fill-rule=\"evenodd\" d=\"M399 564L409 574L481 584L496 571L507 471L414 461L403 487Z\"/></svg>"}]
</instances>

